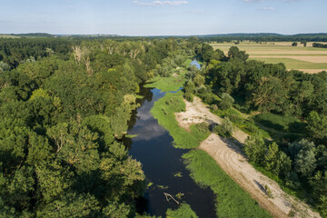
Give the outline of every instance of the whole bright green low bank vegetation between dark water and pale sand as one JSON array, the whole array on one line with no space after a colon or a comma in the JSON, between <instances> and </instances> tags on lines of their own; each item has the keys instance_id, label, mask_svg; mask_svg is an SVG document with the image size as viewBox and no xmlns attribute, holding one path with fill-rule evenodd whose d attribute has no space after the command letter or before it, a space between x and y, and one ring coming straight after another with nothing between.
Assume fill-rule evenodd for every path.
<instances>
[{"instance_id":1,"label":"whole bright green low bank vegetation between dark water and pale sand","mask_svg":"<svg viewBox=\"0 0 327 218\"><path fill-rule=\"evenodd\" d=\"M175 119L174 113L185 111L183 94L166 94L154 103L154 118L173 136L174 144L179 148L196 148L207 138L208 132L190 126L183 129ZM203 115L203 114L202 114ZM203 132L201 134L194 134ZM197 135L197 136L196 136ZM196 183L210 187L216 195L215 210L218 217L271 217L253 198L233 181L213 158L200 151L192 150L183 154L186 167Z\"/></svg>"}]
</instances>

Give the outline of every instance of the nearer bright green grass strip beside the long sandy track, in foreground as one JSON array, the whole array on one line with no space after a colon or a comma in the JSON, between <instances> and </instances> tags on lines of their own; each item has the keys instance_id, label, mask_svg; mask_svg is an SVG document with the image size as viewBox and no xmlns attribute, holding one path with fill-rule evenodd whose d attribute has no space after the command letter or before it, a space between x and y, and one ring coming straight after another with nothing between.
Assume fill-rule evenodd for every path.
<instances>
[{"instance_id":1,"label":"nearer bright green grass strip beside the long sandy track, in foreground","mask_svg":"<svg viewBox=\"0 0 327 218\"><path fill-rule=\"evenodd\" d=\"M253 198L233 181L213 158L202 150L183 154L196 183L209 186L216 194L218 217L271 217Z\"/></svg>"}]
</instances>

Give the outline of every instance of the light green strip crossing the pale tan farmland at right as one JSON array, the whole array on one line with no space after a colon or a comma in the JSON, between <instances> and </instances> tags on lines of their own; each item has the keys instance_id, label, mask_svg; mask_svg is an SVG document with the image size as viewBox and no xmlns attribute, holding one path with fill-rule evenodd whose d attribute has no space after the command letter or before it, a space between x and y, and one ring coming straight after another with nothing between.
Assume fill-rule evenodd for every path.
<instances>
[{"instance_id":1,"label":"light green strip crossing the pale tan farmland at right","mask_svg":"<svg viewBox=\"0 0 327 218\"><path fill-rule=\"evenodd\" d=\"M250 59L263 61L268 64L283 63L287 69L327 69L326 63L312 63L292 58L253 57Z\"/></svg>"}]
</instances>

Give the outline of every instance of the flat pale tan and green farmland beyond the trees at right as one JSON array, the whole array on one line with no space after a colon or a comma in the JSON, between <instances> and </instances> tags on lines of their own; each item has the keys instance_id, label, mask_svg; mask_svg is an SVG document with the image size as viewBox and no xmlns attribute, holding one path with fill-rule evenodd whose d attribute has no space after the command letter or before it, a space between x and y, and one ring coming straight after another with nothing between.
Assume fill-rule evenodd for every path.
<instances>
[{"instance_id":1,"label":"flat pale tan and green farmland beyond the trees at right","mask_svg":"<svg viewBox=\"0 0 327 218\"><path fill-rule=\"evenodd\" d=\"M233 43L214 43L214 49L221 49L224 54L228 53ZM283 63L287 69L301 70L305 73L318 73L322 70L327 71L327 49L314 48L312 43L308 43L304 47L300 42L298 46L292 46L292 42L276 42L276 43L253 43L241 42L235 45L240 50L250 54L250 59L264 61L270 64Z\"/></svg>"}]
</instances>

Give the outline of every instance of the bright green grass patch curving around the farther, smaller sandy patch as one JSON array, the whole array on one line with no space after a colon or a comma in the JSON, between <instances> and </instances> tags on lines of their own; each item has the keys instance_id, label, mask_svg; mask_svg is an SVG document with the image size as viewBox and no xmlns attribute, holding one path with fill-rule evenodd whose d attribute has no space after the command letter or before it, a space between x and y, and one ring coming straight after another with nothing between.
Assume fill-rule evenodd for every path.
<instances>
[{"instance_id":1,"label":"bright green grass patch curving around the farther, smaller sandy patch","mask_svg":"<svg viewBox=\"0 0 327 218\"><path fill-rule=\"evenodd\" d=\"M168 93L157 102L151 113L169 133L173 136L173 144L178 148L196 148L199 146L209 132L200 129L200 125L191 126L191 133L187 132L178 125L174 113L183 112L185 104L181 93Z\"/></svg>"}]
</instances>

